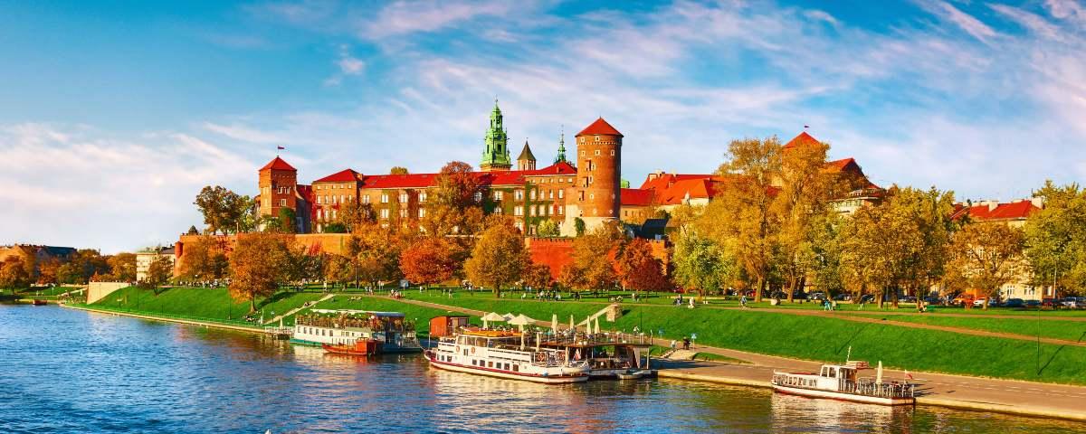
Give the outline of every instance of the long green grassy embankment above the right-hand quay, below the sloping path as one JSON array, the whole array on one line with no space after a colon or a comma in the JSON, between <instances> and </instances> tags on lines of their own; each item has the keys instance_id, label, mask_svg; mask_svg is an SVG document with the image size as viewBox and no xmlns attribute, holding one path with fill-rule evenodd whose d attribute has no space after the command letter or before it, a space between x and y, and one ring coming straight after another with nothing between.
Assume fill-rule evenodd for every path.
<instances>
[{"instance_id":1,"label":"long green grassy embankment above the right-hand quay, below the sloping path","mask_svg":"<svg viewBox=\"0 0 1086 434\"><path fill-rule=\"evenodd\" d=\"M604 303L522 302L489 296L412 298L471 309L525 314L535 319L558 314L580 321ZM790 316L760 309L686 309L672 306L627 305L616 323L606 329L664 330L666 339L697 334L697 343L752 353L810 360L843 361L853 348L853 359L882 360L893 368L996 376L1052 383L1086 384L1086 347L964 335L954 332L909 329L893 324L857 323L836 318ZM968 319L968 318L967 318Z\"/></svg>"}]
</instances>

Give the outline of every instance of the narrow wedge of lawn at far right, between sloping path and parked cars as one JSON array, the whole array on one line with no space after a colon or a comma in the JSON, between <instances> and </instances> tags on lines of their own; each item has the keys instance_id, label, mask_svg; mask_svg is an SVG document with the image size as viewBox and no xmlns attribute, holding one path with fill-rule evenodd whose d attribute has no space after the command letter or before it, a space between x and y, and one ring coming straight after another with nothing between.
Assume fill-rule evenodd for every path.
<instances>
[{"instance_id":1,"label":"narrow wedge of lawn at far right, between sloping path and parked cars","mask_svg":"<svg viewBox=\"0 0 1086 434\"><path fill-rule=\"evenodd\" d=\"M1037 315L1037 314L1034 314ZM857 314L868 318L885 318L887 321L915 322L922 324L957 327L962 329L984 330L996 333L1013 333L1026 336L1053 337L1068 341L1086 341L1086 322L1037 320L1035 318L985 318L975 317L939 317L929 315L893 315L879 316Z\"/></svg>"}]
</instances>

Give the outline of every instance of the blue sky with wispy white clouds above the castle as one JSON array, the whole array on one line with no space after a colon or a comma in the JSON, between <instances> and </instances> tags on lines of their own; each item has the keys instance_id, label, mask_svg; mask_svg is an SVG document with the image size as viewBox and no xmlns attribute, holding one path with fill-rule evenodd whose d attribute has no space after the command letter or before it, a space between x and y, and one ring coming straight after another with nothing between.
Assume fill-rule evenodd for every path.
<instances>
[{"instance_id":1,"label":"blue sky with wispy white clouds above the castle","mask_svg":"<svg viewBox=\"0 0 1086 434\"><path fill-rule=\"evenodd\" d=\"M0 1L0 244L169 244L277 153L478 165L495 99L541 162L603 116L634 186L809 126L881 186L1009 201L1086 180L1084 53L1075 0Z\"/></svg>"}]
</instances>

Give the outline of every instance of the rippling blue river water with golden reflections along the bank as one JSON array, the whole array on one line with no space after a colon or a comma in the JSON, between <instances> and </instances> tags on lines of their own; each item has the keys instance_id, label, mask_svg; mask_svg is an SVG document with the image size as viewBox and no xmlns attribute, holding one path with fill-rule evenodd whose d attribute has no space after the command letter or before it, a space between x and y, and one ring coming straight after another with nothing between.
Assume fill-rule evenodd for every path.
<instances>
[{"instance_id":1,"label":"rippling blue river water with golden reflections along the bank","mask_svg":"<svg viewBox=\"0 0 1086 434\"><path fill-rule=\"evenodd\" d=\"M885 408L671 380L548 386L330 356L264 336L0 305L2 433L1066 433L1083 424ZM768 379L767 379L768 380Z\"/></svg>"}]
</instances>

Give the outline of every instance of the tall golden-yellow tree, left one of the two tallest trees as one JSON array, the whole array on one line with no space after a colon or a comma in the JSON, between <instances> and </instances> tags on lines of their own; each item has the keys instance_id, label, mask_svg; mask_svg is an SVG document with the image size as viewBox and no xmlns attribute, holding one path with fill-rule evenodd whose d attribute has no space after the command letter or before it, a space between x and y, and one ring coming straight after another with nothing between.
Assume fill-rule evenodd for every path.
<instances>
[{"instance_id":1,"label":"tall golden-yellow tree, left one of the two tallest trees","mask_svg":"<svg viewBox=\"0 0 1086 434\"><path fill-rule=\"evenodd\" d=\"M746 275L754 280L755 302L769 283L772 258L779 246L779 213L773 181L782 173L782 145L775 138L733 140L718 173L725 179L717 200L699 218L704 233L730 245Z\"/></svg>"}]
</instances>

